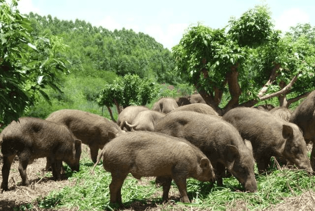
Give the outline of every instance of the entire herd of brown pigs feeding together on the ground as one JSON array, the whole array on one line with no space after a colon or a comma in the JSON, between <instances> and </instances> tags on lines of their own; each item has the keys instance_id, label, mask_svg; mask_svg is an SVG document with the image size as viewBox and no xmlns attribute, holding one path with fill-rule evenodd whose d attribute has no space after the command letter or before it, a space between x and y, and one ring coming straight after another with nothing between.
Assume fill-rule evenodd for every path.
<instances>
[{"instance_id":1,"label":"entire herd of brown pigs feeding together on the ground","mask_svg":"<svg viewBox=\"0 0 315 211\"><path fill-rule=\"evenodd\" d=\"M80 110L63 109L46 120L22 117L0 133L3 155L1 190L8 189L10 167L19 157L22 185L33 159L46 158L54 180L62 162L79 171L81 144L90 148L95 166L100 159L111 172L110 203L122 204L127 174L136 179L156 177L167 201L172 180L182 201L189 202L186 180L222 184L227 170L246 191L257 191L254 173L265 173L271 157L313 174L315 150L308 158L307 143L315 138L315 91L293 111L284 107L236 107L220 116L200 95L160 99L152 109L128 106L117 123ZM98 150L101 149L98 156ZM94 171L94 169L93 169Z\"/></svg>"}]
</instances>

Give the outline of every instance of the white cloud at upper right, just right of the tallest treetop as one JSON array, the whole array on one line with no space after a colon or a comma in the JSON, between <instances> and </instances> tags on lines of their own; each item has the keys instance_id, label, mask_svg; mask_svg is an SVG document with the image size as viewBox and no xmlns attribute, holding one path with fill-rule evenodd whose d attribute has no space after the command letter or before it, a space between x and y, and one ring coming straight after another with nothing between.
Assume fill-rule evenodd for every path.
<instances>
[{"instance_id":1,"label":"white cloud at upper right, just right of the tallest treetop","mask_svg":"<svg viewBox=\"0 0 315 211\"><path fill-rule=\"evenodd\" d=\"M292 8L284 11L278 18L276 18L275 28L285 32L289 30L290 26L309 22L310 17L305 11L298 8Z\"/></svg>"}]
</instances>

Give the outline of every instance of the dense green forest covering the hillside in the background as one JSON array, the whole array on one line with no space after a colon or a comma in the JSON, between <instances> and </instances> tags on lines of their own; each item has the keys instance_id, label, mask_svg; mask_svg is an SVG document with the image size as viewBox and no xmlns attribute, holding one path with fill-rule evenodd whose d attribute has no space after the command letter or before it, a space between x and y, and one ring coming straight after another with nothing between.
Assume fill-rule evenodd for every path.
<instances>
[{"instance_id":1,"label":"dense green forest covering the hillside in the background","mask_svg":"<svg viewBox=\"0 0 315 211\"><path fill-rule=\"evenodd\" d=\"M70 46L64 53L71 65L67 68L76 76L107 78L115 75L138 75L158 82L180 81L174 71L174 60L169 50L144 33L132 29L109 31L85 21L60 21L56 17L29 14L34 35L57 35Z\"/></svg>"}]
</instances>

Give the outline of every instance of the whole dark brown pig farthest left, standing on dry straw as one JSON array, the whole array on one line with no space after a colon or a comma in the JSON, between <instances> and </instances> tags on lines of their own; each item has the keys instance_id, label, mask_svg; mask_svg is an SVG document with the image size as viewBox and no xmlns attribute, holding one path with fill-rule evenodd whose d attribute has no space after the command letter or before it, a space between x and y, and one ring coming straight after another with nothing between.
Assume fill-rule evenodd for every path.
<instances>
[{"instance_id":1,"label":"whole dark brown pig farthest left, standing on dry straw","mask_svg":"<svg viewBox=\"0 0 315 211\"><path fill-rule=\"evenodd\" d=\"M11 122L1 132L1 153L3 154L1 189L8 189L8 177L13 158L20 160L19 172L22 185L29 185L26 168L35 158L51 160L53 177L60 180L62 161L71 170L79 171L81 141L63 125L46 120L24 117Z\"/></svg>"}]
</instances>

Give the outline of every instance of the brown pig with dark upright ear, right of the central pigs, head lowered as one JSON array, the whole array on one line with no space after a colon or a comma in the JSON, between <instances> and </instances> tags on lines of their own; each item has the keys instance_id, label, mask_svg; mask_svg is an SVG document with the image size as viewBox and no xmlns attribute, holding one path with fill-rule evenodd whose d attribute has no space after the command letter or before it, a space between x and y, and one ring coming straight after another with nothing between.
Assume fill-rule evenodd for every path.
<instances>
[{"instance_id":1,"label":"brown pig with dark upright ear, right of the central pigs, head lowered","mask_svg":"<svg viewBox=\"0 0 315 211\"><path fill-rule=\"evenodd\" d=\"M267 111L248 107L233 108L223 115L223 119L234 125L244 139L252 142L260 173L266 171L272 156L283 157L288 164L312 172L306 144L297 125L284 122Z\"/></svg>"}]
</instances>

